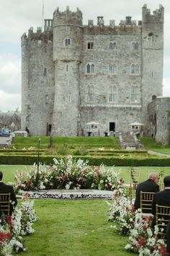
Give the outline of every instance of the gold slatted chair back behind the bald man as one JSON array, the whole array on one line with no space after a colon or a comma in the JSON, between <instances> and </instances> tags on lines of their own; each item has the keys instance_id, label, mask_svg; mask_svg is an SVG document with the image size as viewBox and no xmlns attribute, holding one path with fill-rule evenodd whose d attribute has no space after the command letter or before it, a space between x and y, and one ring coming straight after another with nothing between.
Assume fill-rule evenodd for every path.
<instances>
[{"instance_id":1,"label":"gold slatted chair back behind the bald man","mask_svg":"<svg viewBox=\"0 0 170 256\"><path fill-rule=\"evenodd\" d=\"M152 213L152 201L154 192L140 191L140 209L143 213Z\"/></svg>"}]
</instances>

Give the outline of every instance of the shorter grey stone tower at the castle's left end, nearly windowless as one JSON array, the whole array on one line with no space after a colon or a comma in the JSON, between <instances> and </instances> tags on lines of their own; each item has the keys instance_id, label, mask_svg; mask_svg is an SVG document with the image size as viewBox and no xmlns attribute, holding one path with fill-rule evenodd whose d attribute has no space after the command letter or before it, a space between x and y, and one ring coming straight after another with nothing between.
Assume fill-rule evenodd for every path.
<instances>
[{"instance_id":1,"label":"shorter grey stone tower at the castle's left end, nearly windowless","mask_svg":"<svg viewBox=\"0 0 170 256\"><path fill-rule=\"evenodd\" d=\"M47 22L45 22L47 23ZM49 23L49 20L48 20ZM22 129L48 135L54 102L53 34L45 26L22 35Z\"/></svg>"}]
</instances>

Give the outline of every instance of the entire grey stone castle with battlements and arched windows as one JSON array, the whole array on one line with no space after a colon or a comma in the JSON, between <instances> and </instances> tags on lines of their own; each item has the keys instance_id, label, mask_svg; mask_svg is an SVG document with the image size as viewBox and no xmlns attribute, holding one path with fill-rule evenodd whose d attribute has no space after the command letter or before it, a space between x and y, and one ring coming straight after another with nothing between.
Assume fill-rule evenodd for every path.
<instances>
[{"instance_id":1,"label":"entire grey stone castle with battlements and arched windows","mask_svg":"<svg viewBox=\"0 0 170 256\"><path fill-rule=\"evenodd\" d=\"M119 25L97 17L82 24L79 9L56 9L22 35L22 129L31 135L85 135L90 121L107 131L142 123L151 134L148 103L162 95L164 7Z\"/></svg>"}]
</instances>

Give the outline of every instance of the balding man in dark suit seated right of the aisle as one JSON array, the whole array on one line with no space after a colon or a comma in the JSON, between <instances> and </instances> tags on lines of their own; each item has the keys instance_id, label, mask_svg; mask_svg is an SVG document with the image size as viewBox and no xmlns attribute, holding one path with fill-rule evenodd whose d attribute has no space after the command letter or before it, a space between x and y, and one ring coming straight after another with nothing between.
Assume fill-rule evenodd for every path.
<instances>
[{"instance_id":1,"label":"balding man in dark suit seated right of the aisle","mask_svg":"<svg viewBox=\"0 0 170 256\"><path fill-rule=\"evenodd\" d=\"M140 208L140 191L143 192L158 192L158 174L151 173L148 176L148 179L146 182L141 182L138 184L138 187L136 189L136 195L135 195L135 209L138 210Z\"/></svg>"}]
</instances>

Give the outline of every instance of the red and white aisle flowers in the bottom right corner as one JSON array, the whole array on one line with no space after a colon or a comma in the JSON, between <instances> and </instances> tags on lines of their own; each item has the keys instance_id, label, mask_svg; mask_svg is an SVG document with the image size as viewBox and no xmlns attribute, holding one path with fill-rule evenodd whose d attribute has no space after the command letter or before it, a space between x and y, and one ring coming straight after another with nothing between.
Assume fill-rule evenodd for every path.
<instances>
[{"instance_id":1,"label":"red and white aisle flowers in the bottom right corner","mask_svg":"<svg viewBox=\"0 0 170 256\"><path fill-rule=\"evenodd\" d=\"M163 239L158 239L158 226L151 229L151 217L143 218L140 209L135 215L134 229L130 231L129 244L125 246L129 252L138 252L140 256L169 255Z\"/></svg>"}]
</instances>

